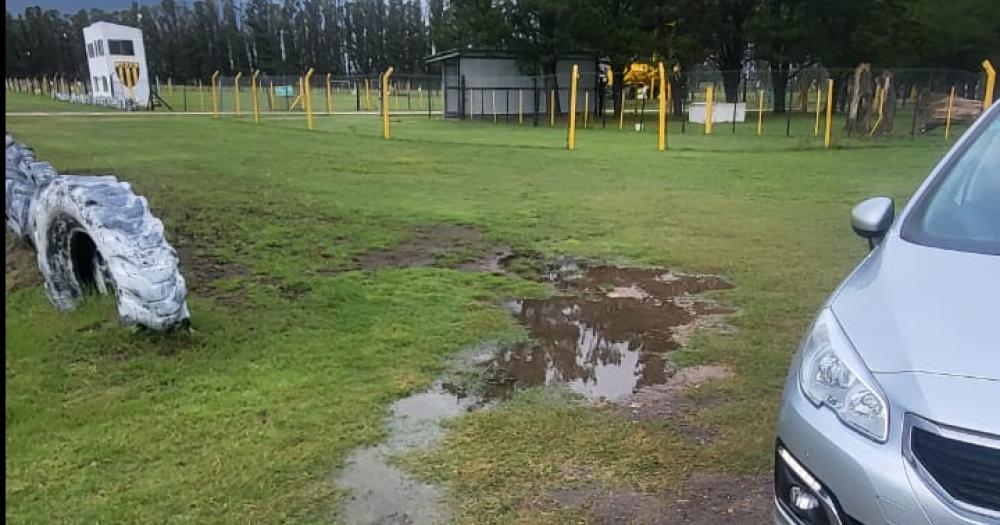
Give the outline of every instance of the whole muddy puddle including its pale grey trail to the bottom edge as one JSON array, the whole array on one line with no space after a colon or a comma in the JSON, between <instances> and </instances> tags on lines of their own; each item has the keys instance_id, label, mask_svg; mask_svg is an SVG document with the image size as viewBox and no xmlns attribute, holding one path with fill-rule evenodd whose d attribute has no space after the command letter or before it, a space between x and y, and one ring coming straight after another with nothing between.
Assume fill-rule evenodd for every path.
<instances>
[{"instance_id":1,"label":"whole muddy puddle including its pale grey trail to the bottom edge","mask_svg":"<svg viewBox=\"0 0 1000 525\"><path fill-rule=\"evenodd\" d=\"M447 522L450 513L441 489L399 469L393 458L433 446L444 433L442 422L491 406L519 388L565 385L589 399L618 402L623 410L641 408L634 416L642 419L640 415L673 414L677 391L728 376L713 367L676 373L667 359L700 326L714 326L729 313L701 295L729 288L725 280L662 269L586 267L572 259L543 266L535 277L550 282L558 293L507 304L530 339L459 354L451 370L473 370L486 378L485 385L456 388L439 380L394 403L385 423L388 437L355 451L334 480L349 493L338 521ZM637 392L646 397L635 397ZM629 403L632 399L638 401Z\"/></svg>"}]
</instances>

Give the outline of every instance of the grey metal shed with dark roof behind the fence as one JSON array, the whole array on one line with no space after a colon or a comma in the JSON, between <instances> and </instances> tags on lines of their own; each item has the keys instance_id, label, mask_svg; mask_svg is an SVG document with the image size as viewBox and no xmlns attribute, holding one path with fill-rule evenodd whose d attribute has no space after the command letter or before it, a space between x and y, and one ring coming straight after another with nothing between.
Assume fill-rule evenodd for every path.
<instances>
[{"instance_id":1,"label":"grey metal shed with dark roof behind the fence","mask_svg":"<svg viewBox=\"0 0 1000 525\"><path fill-rule=\"evenodd\" d=\"M591 112L598 107L599 93L596 53L567 53L556 63L556 75L528 75L517 65L511 51L452 49L425 59L428 66L440 66L444 93L444 116L450 118L516 117L547 114L553 96L557 113L569 108L570 74L573 64L580 67L577 108L584 100Z\"/></svg>"}]
</instances>

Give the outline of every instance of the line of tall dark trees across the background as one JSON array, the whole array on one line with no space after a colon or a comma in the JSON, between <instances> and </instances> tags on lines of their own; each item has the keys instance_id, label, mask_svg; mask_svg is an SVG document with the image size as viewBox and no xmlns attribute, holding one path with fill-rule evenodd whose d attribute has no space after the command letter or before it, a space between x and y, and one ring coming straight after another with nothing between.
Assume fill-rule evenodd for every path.
<instances>
[{"instance_id":1,"label":"line of tall dark trees across the background","mask_svg":"<svg viewBox=\"0 0 1000 525\"><path fill-rule=\"evenodd\" d=\"M727 100L740 71L766 64L775 88L810 65L975 71L1000 59L996 0L162 0L117 12L7 12L8 75L84 77L82 28L142 28L152 71L176 82L260 69L271 74L423 71L453 47L508 49L530 74L587 50L623 72L636 60L722 71ZM783 93L782 93L783 95ZM779 93L775 93L775 98Z\"/></svg>"}]
</instances>

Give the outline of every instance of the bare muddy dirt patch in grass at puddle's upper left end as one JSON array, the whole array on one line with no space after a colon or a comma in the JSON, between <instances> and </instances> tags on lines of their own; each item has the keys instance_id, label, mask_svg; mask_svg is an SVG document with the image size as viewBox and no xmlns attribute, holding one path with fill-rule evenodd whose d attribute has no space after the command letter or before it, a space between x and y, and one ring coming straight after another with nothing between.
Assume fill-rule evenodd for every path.
<instances>
[{"instance_id":1,"label":"bare muddy dirt patch in grass at puddle's upper left end","mask_svg":"<svg viewBox=\"0 0 1000 525\"><path fill-rule=\"evenodd\" d=\"M514 255L505 245L488 242L472 226L432 224L420 226L403 243L373 250L359 260L361 268L417 268L443 266L464 271L501 272L503 262Z\"/></svg>"}]
</instances>

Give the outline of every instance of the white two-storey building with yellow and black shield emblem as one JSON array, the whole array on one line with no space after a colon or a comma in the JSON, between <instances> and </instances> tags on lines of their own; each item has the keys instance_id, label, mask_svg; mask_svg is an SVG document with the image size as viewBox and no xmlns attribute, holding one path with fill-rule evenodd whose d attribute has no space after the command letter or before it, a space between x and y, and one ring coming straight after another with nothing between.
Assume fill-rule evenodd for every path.
<instances>
[{"instance_id":1,"label":"white two-storey building with yellow and black shield emblem","mask_svg":"<svg viewBox=\"0 0 1000 525\"><path fill-rule=\"evenodd\" d=\"M87 47L87 66L90 69L90 87L95 101L119 103L128 99L128 89L115 72L115 64L139 64L139 81L133 92L140 106L149 103L149 67L146 65L146 46L142 30L95 22L83 28L83 41Z\"/></svg>"}]
</instances>

